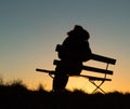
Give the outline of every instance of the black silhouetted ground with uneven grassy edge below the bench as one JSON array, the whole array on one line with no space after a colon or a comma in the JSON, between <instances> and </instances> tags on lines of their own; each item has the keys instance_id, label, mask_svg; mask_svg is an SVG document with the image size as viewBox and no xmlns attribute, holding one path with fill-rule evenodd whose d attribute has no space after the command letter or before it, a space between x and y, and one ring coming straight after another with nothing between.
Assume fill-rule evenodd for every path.
<instances>
[{"instance_id":1,"label":"black silhouetted ground with uneven grassy edge below the bench","mask_svg":"<svg viewBox=\"0 0 130 109\"><path fill-rule=\"evenodd\" d=\"M21 84L0 85L0 109L130 109L130 94L55 94L42 88L29 91Z\"/></svg>"}]
</instances>

